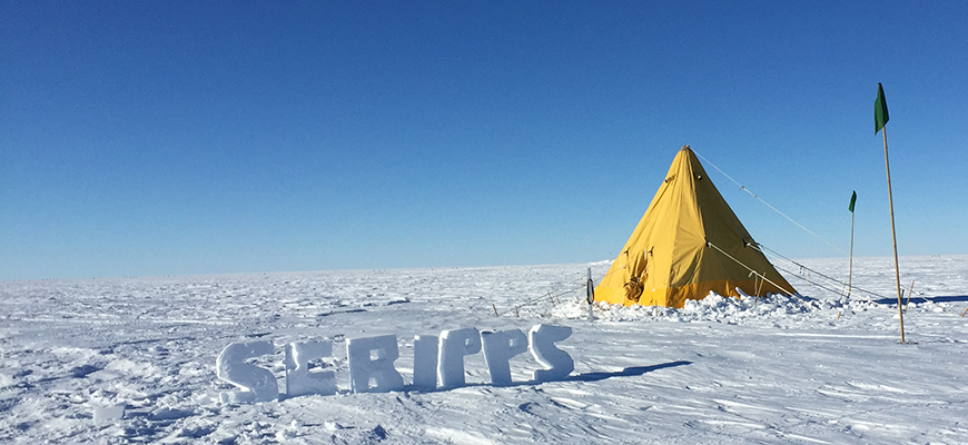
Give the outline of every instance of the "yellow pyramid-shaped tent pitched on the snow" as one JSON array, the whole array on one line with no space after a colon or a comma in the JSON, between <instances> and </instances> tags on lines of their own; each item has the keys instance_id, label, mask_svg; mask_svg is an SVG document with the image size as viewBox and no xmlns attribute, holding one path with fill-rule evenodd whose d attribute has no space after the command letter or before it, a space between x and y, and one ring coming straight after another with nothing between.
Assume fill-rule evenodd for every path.
<instances>
[{"instance_id":1,"label":"yellow pyramid-shaped tent pitched on the snow","mask_svg":"<svg viewBox=\"0 0 968 445\"><path fill-rule=\"evenodd\" d=\"M695 154L682 146L635 231L595 287L595 300L682 307L710 290L734 297L740 296L737 288L754 296L796 293L750 245L755 246L753 238Z\"/></svg>"}]
</instances>

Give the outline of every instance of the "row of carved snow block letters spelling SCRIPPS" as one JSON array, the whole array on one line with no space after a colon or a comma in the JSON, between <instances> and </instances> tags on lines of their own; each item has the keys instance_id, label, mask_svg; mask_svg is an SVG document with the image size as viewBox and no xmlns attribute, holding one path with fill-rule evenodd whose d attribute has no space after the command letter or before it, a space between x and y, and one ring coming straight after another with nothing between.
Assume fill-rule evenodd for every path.
<instances>
[{"instance_id":1,"label":"row of carved snow block letters spelling SCRIPPS","mask_svg":"<svg viewBox=\"0 0 968 445\"><path fill-rule=\"evenodd\" d=\"M464 357L484 352L484 362L493 385L508 385L510 360L531 350L543 366L535 369L536 383L563 379L575 368L574 360L555 346L572 335L572 328L535 325L527 335L521 329L478 332L477 328L443 330L436 336L414 336L413 387L433 390L464 386ZM286 345L286 397L336 394L336 373L309 372L309 362L330 357L333 342L297 342ZM273 354L273 342L234 343L225 347L216 359L219 379L240 390L225 392L225 403L269 402L279 398L279 386L273 372L246 363L246 359ZM346 340L349 363L350 389L354 393L386 393L403 390L404 379L394 367L399 358L395 335L350 338Z\"/></svg>"}]
</instances>

